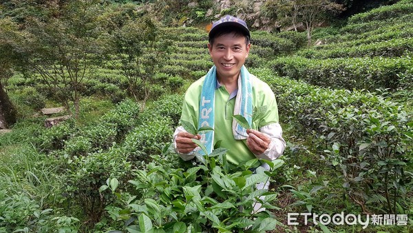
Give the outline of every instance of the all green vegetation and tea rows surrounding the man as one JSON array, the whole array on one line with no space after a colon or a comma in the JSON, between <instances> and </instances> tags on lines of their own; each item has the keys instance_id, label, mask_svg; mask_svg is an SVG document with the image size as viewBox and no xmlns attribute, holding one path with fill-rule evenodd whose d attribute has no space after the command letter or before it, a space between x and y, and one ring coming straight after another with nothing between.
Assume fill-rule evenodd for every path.
<instances>
[{"instance_id":1,"label":"all green vegetation and tea rows surrounding the man","mask_svg":"<svg viewBox=\"0 0 413 233\"><path fill-rule=\"evenodd\" d=\"M302 32L304 12L279 12L300 2L0 1L0 232L411 232L413 2L336 1ZM271 172L171 148L184 91L213 64L203 27L227 13L284 23L246 18L268 29L246 65L288 142ZM45 128L39 110L59 105L72 118ZM288 212L409 221L291 226Z\"/></svg>"}]
</instances>

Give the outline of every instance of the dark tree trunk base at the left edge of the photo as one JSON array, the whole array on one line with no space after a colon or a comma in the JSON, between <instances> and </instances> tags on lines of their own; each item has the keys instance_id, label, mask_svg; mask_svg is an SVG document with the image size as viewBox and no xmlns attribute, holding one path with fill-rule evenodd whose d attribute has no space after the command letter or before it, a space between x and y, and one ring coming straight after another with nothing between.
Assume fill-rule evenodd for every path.
<instances>
[{"instance_id":1,"label":"dark tree trunk base at the left edge of the photo","mask_svg":"<svg viewBox=\"0 0 413 233\"><path fill-rule=\"evenodd\" d=\"M0 128L8 128L17 121L17 110L0 83Z\"/></svg>"}]
</instances>

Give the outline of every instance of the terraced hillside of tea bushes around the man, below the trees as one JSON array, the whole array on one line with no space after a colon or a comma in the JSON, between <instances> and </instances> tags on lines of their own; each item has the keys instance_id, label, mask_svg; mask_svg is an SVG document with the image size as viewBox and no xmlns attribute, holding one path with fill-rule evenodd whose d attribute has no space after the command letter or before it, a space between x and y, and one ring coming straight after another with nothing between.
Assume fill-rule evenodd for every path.
<instances>
[{"instance_id":1,"label":"terraced hillside of tea bushes around the man, below the trees","mask_svg":"<svg viewBox=\"0 0 413 233\"><path fill-rule=\"evenodd\" d=\"M105 14L123 19L114 12ZM61 104L54 89L39 72L15 72L6 90L19 119L0 134L0 232L412 232L412 19L411 0L374 8L315 30L322 44L309 48L306 32L252 32L246 67L275 93L287 141L263 174L252 162L232 170L222 148L207 164L173 152L183 94L213 65L203 29L160 27L153 47L137 41L96 59L78 118L52 128L39 109ZM116 36L149 38L134 25ZM127 57L140 51L149 55ZM268 211L251 214L261 195L251 185L268 178ZM288 213L342 212L370 223L288 225Z\"/></svg>"}]
</instances>

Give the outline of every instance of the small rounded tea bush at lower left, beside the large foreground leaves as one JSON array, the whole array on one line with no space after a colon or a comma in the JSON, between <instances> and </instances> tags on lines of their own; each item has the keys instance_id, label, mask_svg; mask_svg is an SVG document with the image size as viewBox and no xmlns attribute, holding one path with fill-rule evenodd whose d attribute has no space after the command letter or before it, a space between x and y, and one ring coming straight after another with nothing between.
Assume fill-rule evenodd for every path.
<instances>
[{"instance_id":1,"label":"small rounded tea bush at lower left, beside the large foreground leaves","mask_svg":"<svg viewBox=\"0 0 413 233\"><path fill-rule=\"evenodd\" d=\"M98 223L107 205L114 201L109 190L100 190L108 180L116 178L123 187L131 174L132 165L118 148L89 156L74 156L66 161L65 194L78 204L87 216L89 225ZM108 184L109 185L109 184Z\"/></svg>"}]
</instances>

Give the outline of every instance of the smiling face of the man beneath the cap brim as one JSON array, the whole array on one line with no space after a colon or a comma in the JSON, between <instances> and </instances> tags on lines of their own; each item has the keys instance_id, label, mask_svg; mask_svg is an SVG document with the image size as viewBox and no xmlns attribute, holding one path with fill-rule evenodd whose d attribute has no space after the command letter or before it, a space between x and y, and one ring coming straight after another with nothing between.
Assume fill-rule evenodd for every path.
<instances>
[{"instance_id":1,"label":"smiling face of the man beneath the cap brim","mask_svg":"<svg viewBox=\"0 0 413 233\"><path fill-rule=\"evenodd\" d=\"M234 33L223 34L215 38L213 45L208 44L219 81L237 79L250 47L251 44L245 44L244 36Z\"/></svg>"}]
</instances>

